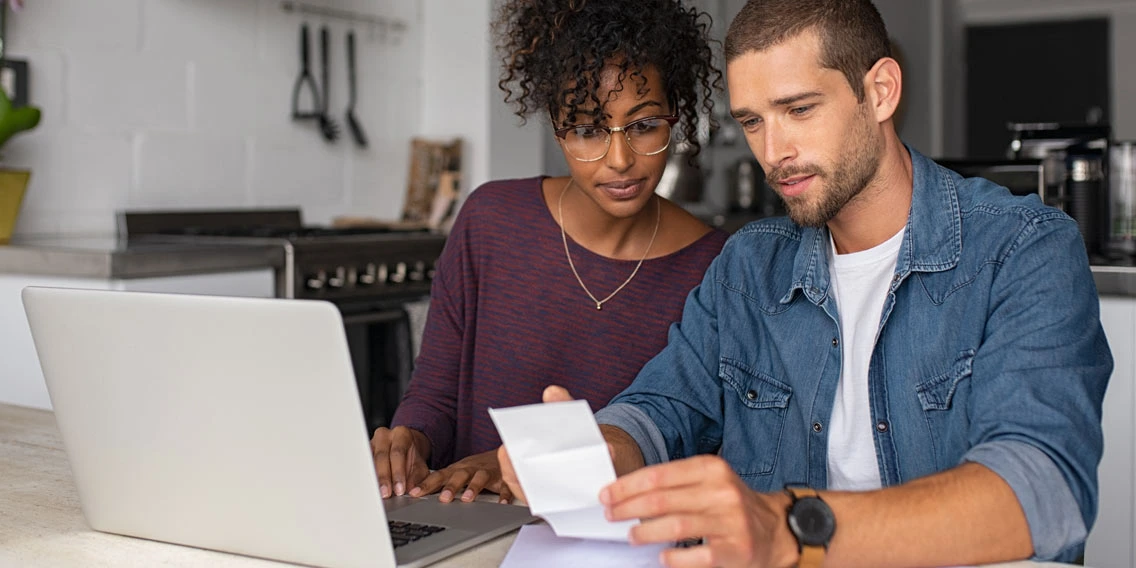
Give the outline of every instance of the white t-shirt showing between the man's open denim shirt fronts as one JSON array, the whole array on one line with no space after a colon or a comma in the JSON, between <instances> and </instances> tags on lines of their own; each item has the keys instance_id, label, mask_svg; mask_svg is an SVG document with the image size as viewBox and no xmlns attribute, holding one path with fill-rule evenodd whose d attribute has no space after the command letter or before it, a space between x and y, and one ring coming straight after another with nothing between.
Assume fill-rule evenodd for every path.
<instances>
[{"instance_id":1,"label":"white t-shirt showing between the man's open denim shirt fronts","mask_svg":"<svg viewBox=\"0 0 1136 568\"><path fill-rule=\"evenodd\" d=\"M841 315L843 366L828 423L828 488L868 491L880 487L876 424L868 398L868 365L884 314L884 299L895 274L903 229L866 251L837 254L828 237L832 293Z\"/></svg>"}]
</instances>

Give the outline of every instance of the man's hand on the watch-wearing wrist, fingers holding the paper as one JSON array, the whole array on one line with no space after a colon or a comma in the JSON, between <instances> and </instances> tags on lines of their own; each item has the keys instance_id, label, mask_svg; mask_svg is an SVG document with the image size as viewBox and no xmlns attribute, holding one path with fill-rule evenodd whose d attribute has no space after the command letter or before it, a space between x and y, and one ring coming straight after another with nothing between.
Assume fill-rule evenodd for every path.
<instances>
[{"instance_id":1,"label":"man's hand on the watch-wearing wrist, fingers holding the paper","mask_svg":"<svg viewBox=\"0 0 1136 568\"><path fill-rule=\"evenodd\" d=\"M717 456L660 463L620 477L600 493L608 519L642 518L632 544L702 538L668 549L669 567L794 566L797 543L786 524L790 498L751 491Z\"/></svg>"}]
</instances>

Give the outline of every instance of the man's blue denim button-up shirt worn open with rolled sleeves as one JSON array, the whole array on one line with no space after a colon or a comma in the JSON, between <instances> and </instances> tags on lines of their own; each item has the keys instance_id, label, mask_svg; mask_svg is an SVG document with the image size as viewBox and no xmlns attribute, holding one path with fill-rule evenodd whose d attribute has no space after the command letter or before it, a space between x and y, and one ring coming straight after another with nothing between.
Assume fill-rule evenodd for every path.
<instances>
[{"instance_id":1,"label":"man's blue denim button-up shirt worn open with rolled sleeves","mask_svg":"<svg viewBox=\"0 0 1136 568\"><path fill-rule=\"evenodd\" d=\"M880 479L972 461L1021 503L1035 558L1072 560L1096 516L1112 356L1075 222L917 151L913 193L868 370ZM648 463L720 453L754 491L827 486L841 379L828 229L733 235L667 348L596 415Z\"/></svg>"}]
</instances>

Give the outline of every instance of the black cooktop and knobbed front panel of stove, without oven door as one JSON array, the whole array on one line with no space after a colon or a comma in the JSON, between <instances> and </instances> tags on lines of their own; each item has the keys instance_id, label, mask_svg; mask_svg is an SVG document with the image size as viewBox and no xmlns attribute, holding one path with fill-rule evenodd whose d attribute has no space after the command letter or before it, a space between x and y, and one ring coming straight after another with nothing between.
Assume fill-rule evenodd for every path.
<instances>
[{"instance_id":1,"label":"black cooktop and knobbed front panel of stove, without oven door","mask_svg":"<svg viewBox=\"0 0 1136 568\"><path fill-rule=\"evenodd\" d=\"M425 229L304 226L298 209L125 212L127 242L279 245L276 295L336 303L429 293L445 236Z\"/></svg>"}]
</instances>

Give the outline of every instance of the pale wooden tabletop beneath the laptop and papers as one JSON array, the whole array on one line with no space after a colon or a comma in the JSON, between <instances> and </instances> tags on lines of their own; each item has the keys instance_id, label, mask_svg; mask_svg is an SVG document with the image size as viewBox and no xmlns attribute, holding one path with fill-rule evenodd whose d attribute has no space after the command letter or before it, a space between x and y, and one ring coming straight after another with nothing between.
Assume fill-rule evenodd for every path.
<instances>
[{"instance_id":1,"label":"pale wooden tabletop beneath the laptop and papers","mask_svg":"<svg viewBox=\"0 0 1136 568\"><path fill-rule=\"evenodd\" d=\"M495 567L516 532L434 566ZM0 404L0 566L269 568L292 566L92 531L51 412ZM996 568L1067 565L1010 562ZM993 567L992 567L993 568Z\"/></svg>"}]
</instances>

